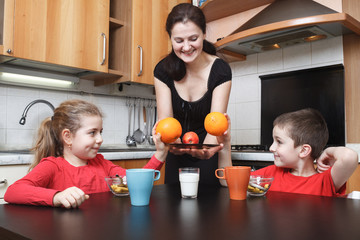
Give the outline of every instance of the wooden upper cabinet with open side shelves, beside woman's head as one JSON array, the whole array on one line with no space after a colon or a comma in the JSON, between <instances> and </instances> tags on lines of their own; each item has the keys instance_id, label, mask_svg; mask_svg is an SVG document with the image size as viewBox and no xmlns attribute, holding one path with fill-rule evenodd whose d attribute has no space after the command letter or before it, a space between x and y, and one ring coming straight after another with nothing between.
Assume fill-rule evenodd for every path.
<instances>
[{"instance_id":1,"label":"wooden upper cabinet with open side shelves, beside woman's head","mask_svg":"<svg viewBox=\"0 0 360 240\"><path fill-rule=\"evenodd\" d=\"M167 15L181 2L190 0L111 0L109 73L113 77L95 79L95 85L153 85L154 67L171 49Z\"/></svg>"}]
</instances>

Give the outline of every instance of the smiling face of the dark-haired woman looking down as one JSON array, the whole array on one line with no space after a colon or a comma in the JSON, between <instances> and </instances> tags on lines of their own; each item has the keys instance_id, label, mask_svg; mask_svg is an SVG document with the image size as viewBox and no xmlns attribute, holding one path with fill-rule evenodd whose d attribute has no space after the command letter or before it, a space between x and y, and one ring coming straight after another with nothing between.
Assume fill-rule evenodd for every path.
<instances>
[{"instance_id":1,"label":"smiling face of the dark-haired woman looking down","mask_svg":"<svg viewBox=\"0 0 360 240\"><path fill-rule=\"evenodd\" d=\"M200 56L204 39L204 33L191 21L175 23L171 30L174 52L185 63L191 63Z\"/></svg>"}]
</instances>

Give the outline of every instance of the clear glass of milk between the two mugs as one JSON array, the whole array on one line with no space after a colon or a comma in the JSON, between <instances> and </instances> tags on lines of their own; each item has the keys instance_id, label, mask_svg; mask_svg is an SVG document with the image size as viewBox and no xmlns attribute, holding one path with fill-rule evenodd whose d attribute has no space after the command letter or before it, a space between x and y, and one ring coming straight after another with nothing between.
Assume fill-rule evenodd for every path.
<instances>
[{"instance_id":1,"label":"clear glass of milk between the two mugs","mask_svg":"<svg viewBox=\"0 0 360 240\"><path fill-rule=\"evenodd\" d=\"M181 196L183 198L197 198L199 177L199 168L179 168Z\"/></svg>"}]
</instances>

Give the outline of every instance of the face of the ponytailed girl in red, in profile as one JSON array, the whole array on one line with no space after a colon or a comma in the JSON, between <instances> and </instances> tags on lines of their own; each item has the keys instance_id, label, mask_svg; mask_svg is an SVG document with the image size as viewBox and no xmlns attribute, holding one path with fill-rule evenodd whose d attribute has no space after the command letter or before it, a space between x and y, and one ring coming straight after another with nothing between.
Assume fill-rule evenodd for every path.
<instances>
[{"instance_id":1,"label":"face of the ponytailed girl in red, in profile","mask_svg":"<svg viewBox=\"0 0 360 240\"><path fill-rule=\"evenodd\" d=\"M103 142L102 118L100 116L83 116L80 118L80 128L72 134L71 152L82 160L96 156Z\"/></svg>"}]
</instances>

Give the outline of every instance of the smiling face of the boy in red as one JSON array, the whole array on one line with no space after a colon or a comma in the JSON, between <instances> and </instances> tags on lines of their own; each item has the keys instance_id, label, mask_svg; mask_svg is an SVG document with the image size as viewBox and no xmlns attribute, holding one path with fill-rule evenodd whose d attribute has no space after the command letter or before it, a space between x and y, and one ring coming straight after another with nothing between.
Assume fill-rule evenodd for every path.
<instances>
[{"instance_id":1,"label":"smiling face of the boy in red","mask_svg":"<svg viewBox=\"0 0 360 240\"><path fill-rule=\"evenodd\" d=\"M274 163L278 167L295 168L299 162L301 145L294 147L294 140L290 138L286 128L273 128L274 142L270 151L274 154Z\"/></svg>"}]
</instances>

